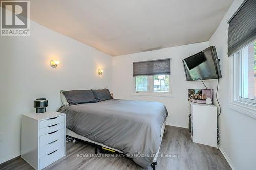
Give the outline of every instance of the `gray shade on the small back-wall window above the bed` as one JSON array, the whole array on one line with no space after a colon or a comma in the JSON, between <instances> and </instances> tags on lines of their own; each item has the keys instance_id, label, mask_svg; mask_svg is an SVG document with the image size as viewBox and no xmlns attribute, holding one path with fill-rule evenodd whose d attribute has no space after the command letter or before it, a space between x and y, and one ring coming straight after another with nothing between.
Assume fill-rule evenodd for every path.
<instances>
[{"instance_id":1,"label":"gray shade on the small back-wall window above the bed","mask_svg":"<svg viewBox=\"0 0 256 170\"><path fill-rule=\"evenodd\" d=\"M133 76L170 75L170 59L141 61L133 63Z\"/></svg>"}]
</instances>

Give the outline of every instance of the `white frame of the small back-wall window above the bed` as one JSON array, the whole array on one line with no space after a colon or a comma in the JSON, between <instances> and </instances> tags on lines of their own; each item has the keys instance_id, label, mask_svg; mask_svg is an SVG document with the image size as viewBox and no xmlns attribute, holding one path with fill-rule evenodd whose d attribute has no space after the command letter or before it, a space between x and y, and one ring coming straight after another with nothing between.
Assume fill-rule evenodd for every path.
<instances>
[{"instance_id":1,"label":"white frame of the small back-wall window above the bed","mask_svg":"<svg viewBox=\"0 0 256 170\"><path fill-rule=\"evenodd\" d=\"M163 74L166 75L166 74ZM133 77L133 93L132 95L142 95L142 96L163 96L172 97L172 76L169 75L169 92L158 92L154 91L154 75L147 77L147 91L136 91L136 78Z\"/></svg>"}]
</instances>

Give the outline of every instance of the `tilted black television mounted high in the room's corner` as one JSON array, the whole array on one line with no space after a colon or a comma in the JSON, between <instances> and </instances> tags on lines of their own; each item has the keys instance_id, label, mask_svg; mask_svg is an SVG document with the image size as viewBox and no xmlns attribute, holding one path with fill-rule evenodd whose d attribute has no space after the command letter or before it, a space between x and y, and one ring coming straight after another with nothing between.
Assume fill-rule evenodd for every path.
<instances>
[{"instance_id":1,"label":"tilted black television mounted high in the room's corner","mask_svg":"<svg viewBox=\"0 0 256 170\"><path fill-rule=\"evenodd\" d=\"M210 46L183 60L187 81L221 78L216 49Z\"/></svg>"}]
</instances>

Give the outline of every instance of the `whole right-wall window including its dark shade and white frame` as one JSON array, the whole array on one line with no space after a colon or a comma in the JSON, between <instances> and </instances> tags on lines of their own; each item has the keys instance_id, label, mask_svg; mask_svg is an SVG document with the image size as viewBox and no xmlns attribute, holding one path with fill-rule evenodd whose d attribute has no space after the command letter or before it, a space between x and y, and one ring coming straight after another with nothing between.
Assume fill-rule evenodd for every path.
<instances>
[{"instance_id":1,"label":"whole right-wall window including its dark shade and white frame","mask_svg":"<svg viewBox=\"0 0 256 170\"><path fill-rule=\"evenodd\" d=\"M245 0L228 21L229 107L256 118L255 1Z\"/></svg>"}]
</instances>

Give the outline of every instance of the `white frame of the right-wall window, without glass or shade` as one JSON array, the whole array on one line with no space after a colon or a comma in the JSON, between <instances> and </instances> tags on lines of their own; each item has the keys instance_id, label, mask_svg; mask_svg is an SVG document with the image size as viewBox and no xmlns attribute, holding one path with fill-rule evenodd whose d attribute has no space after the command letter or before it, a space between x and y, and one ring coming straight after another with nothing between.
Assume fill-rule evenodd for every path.
<instances>
[{"instance_id":1,"label":"white frame of the right-wall window, without glass or shade","mask_svg":"<svg viewBox=\"0 0 256 170\"><path fill-rule=\"evenodd\" d=\"M241 98L240 86L242 86L242 50L234 53L230 58L230 99L229 108L245 115L256 118L255 100Z\"/></svg>"}]
</instances>

